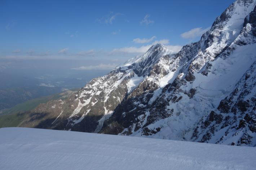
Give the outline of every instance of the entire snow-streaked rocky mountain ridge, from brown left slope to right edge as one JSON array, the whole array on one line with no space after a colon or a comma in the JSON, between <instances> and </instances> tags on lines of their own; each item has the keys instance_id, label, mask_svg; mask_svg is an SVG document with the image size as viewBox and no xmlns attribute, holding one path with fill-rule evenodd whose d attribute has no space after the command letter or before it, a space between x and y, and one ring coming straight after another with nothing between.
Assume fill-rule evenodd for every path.
<instances>
[{"instance_id":1,"label":"entire snow-streaked rocky mountain ridge, from brown left slope to right edge","mask_svg":"<svg viewBox=\"0 0 256 170\"><path fill-rule=\"evenodd\" d=\"M21 126L256 146L255 5L235 1L200 41L156 44Z\"/></svg>"}]
</instances>

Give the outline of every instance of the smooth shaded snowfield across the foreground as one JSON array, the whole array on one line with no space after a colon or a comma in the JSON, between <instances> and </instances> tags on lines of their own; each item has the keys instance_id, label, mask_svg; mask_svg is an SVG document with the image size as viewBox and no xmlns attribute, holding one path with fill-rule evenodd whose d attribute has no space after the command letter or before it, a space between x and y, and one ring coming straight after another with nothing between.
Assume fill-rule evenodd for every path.
<instances>
[{"instance_id":1,"label":"smooth shaded snowfield across the foreground","mask_svg":"<svg viewBox=\"0 0 256 170\"><path fill-rule=\"evenodd\" d=\"M252 170L256 148L30 128L0 129L1 170Z\"/></svg>"}]
</instances>

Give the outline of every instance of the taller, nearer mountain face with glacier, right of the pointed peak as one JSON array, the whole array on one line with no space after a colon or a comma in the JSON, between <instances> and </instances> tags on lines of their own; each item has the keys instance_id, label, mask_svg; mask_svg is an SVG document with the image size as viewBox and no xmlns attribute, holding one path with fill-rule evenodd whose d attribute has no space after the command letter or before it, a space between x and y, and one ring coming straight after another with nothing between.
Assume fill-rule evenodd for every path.
<instances>
[{"instance_id":1,"label":"taller, nearer mountain face with glacier, right of the pointed peak","mask_svg":"<svg viewBox=\"0 0 256 170\"><path fill-rule=\"evenodd\" d=\"M150 89L138 97L128 96L101 132L115 131L115 126L111 126L115 122L121 135L255 146L255 88L252 88L255 79L248 82L250 89L242 90L250 91L253 97L247 100L242 95L238 101L225 100L237 89L239 85L235 84L243 74L253 72L255 4L252 0L235 1L199 42L184 46L177 54L167 55L167 66L172 73L168 83L151 89L152 97L148 97ZM234 114L231 113L233 107L237 116L223 115L221 106L229 114ZM248 122L241 121L243 115ZM222 136L227 137L224 140Z\"/></svg>"}]
</instances>

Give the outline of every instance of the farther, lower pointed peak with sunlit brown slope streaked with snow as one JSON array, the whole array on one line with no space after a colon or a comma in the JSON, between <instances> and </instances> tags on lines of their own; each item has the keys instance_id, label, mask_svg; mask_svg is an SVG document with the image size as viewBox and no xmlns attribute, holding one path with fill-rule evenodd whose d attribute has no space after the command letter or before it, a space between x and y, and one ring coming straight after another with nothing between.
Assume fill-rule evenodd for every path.
<instances>
[{"instance_id":1,"label":"farther, lower pointed peak with sunlit brown slope streaked with snow","mask_svg":"<svg viewBox=\"0 0 256 170\"><path fill-rule=\"evenodd\" d=\"M66 100L40 104L32 111L31 119L23 122L21 126L97 133L103 122L111 116L116 106L124 101L128 94L139 95L145 91L145 88L158 87L158 84L146 78L152 71L153 65L169 53L165 46L158 43L144 55L117 66L108 75L92 79L79 92ZM159 66L155 70L156 77L159 77L162 71ZM138 84L140 87L134 92Z\"/></svg>"}]
</instances>

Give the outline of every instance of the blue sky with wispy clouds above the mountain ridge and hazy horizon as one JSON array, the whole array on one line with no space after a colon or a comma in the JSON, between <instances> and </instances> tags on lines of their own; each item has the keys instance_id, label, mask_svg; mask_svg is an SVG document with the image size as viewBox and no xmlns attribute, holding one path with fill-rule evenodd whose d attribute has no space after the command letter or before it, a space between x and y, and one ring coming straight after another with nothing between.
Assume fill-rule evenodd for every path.
<instances>
[{"instance_id":1,"label":"blue sky with wispy clouds above the mountain ridge and hazy horizon","mask_svg":"<svg viewBox=\"0 0 256 170\"><path fill-rule=\"evenodd\" d=\"M156 42L176 52L232 2L1 0L0 63L84 60L65 67L110 69Z\"/></svg>"}]
</instances>

